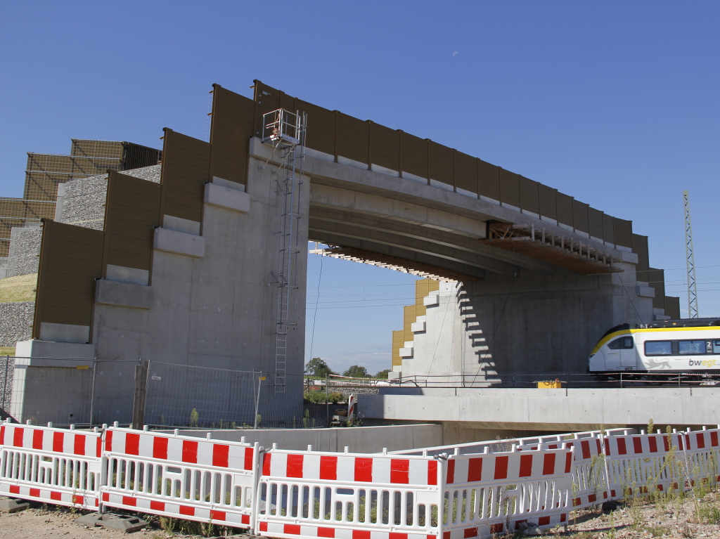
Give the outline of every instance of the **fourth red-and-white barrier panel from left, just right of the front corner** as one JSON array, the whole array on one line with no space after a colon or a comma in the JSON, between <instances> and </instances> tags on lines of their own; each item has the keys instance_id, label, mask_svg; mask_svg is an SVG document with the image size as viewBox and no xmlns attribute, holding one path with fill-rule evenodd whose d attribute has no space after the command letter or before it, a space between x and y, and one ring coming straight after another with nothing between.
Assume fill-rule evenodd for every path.
<instances>
[{"instance_id":1,"label":"fourth red-and-white barrier panel from left, just right of the front corner","mask_svg":"<svg viewBox=\"0 0 720 539\"><path fill-rule=\"evenodd\" d=\"M489 538L523 523L552 527L572 510L572 449L448 457L443 484L443 539ZM510 530L505 530L505 525Z\"/></svg>"}]
</instances>

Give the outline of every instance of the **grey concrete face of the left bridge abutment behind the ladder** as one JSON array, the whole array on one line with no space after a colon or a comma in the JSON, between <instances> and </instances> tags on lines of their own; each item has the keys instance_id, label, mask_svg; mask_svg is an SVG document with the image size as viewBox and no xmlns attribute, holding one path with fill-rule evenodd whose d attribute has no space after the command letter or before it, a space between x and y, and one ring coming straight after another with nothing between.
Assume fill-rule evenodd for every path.
<instances>
[{"instance_id":1,"label":"grey concrete face of the left bridge abutment behind the ladder","mask_svg":"<svg viewBox=\"0 0 720 539\"><path fill-rule=\"evenodd\" d=\"M202 366L248 373L253 369L275 371L277 287L273 272L279 250L275 232L279 230L281 198L276 193L274 167L261 169L263 164L251 159L246 189L250 199L249 212L206 204L202 236L156 229L161 230L160 234L171 232L172 235L182 236L183 240L192 238L194 242L204 242L204 255L200 258L168 252L189 251L189 248L155 250L151 276L153 304L150 309L96 304L92 342L96 343L99 359L132 362L143 358L149 359L151 365L153 362L176 363L187 366L186 369ZM305 178L300 193L303 215L307 215L310 200L309 184L310 181ZM306 238L307 219L300 219L299 223L300 237ZM301 245L305 244L301 242ZM288 373L296 375L293 383L297 387L287 388L287 405L284 406L284 413L291 422L292 417L302 417L300 375L305 359L307 250L300 249L297 257L299 288L294 292L292 302L296 329L289 335L286 367ZM104 421L128 422L132 413L132 377L128 380L125 375L110 376L112 372L112 369L106 368L104 374L96 376L96 394L106 395L107 400L98 402L95 412ZM173 376L189 380L181 378L179 372ZM189 381L184 383L189 385L180 389L158 383L153 390L158 391L156 395L162 401L190 387ZM243 391L251 389L248 387ZM244 398L243 395L237 397ZM207 396L204 398L207 399ZM259 412L264 422L269 421L270 409L276 409L274 400L278 398L274 389L261 392ZM200 395L192 399L196 402L202 400ZM168 406L183 407L181 413L185 416L194 407L186 409L189 404ZM157 409L153 413L159 416L163 412ZM208 422L253 419L228 417L221 413L218 409L217 417L205 415L203 419ZM155 422L157 417L149 421Z\"/></svg>"}]
</instances>

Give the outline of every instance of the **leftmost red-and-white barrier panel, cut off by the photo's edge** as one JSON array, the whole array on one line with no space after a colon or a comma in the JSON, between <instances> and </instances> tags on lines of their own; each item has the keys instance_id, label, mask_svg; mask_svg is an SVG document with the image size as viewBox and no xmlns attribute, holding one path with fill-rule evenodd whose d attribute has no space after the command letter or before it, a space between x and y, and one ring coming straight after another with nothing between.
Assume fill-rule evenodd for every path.
<instances>
[{"instance_id":1,"label":"leftmost red-and-white barrier panel, cut off by the photo's edge","mask_svg":"<svg viewBox=\"0 0 720 539\"><path fill-rule=\"evenodd\" d=\"M102 433L35 425L0 426L0 493L96 509Z\"/></svg>"}]
</instances>

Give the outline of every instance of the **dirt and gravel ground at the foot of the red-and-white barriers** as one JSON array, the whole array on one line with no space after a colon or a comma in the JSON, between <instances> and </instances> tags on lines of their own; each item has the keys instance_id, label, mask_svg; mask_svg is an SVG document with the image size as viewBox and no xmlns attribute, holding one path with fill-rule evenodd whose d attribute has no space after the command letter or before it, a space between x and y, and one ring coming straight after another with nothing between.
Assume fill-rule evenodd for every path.
<instances>
[{"instance_id":1,"label":"dirt and gravel ground at the foot of the red-and-white barriers","mask_svg":"<svg viewBox=\"0 0 720 539\"><path fill-rule=\"evenodd\" d=\"M166 532L158 526L157 520L152 522L151 529L127 535L105 530L102 527L77 525L73 520L79 516L78 512L60 507L37 507L12 514L0 513L0 538L199 539L202 537L202 535L186 535L179 531ZM182 522L179 523L180 525ZM685 499L664 499L654 504L645 504L642 500L635 500L630 504L618 504L618 508L612 512L602 512L599 507L594 510L575 511L570 516L567 533L559 527L554 530L544 530L543 535L571 539L720 538L720 495L710 493L695 497L690 493ZM522 533L516 536L522 536Z\"/></svg>"}]
</instances>

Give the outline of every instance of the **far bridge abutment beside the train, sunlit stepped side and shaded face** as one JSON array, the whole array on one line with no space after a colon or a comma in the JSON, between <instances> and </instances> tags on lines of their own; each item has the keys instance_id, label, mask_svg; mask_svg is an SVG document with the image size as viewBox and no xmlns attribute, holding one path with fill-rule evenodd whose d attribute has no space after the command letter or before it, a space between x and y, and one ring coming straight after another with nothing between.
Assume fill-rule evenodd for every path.
<instances>
[{"instance_id":1,"label":"far bridge abutment beside the train, sunlit stepped side and shaded face","mask_svg":"<svg viewBox=\"0 0 720 539\"><path fill-rule=\"evenodd\" d=\"M608 329L653 320L652 299L632 286L635 266L622 266L624 273L606 275L558 268L554 275L442 283L413 334L402 376L506 385L529 382L523 376L531 373L585 374Z\"/></svg>"}]
</instances>

